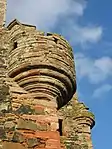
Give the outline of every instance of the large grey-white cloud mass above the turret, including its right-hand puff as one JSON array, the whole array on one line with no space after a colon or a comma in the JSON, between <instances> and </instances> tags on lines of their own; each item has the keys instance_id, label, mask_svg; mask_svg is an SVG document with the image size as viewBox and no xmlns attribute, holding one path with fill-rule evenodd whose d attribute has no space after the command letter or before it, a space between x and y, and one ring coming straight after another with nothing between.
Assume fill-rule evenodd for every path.
<instances>
[{"instance_id":1,"label":"large grey-white cloud mass above the turret, including its right-hand puff","mask_svg":"<svg viewBox=\"0 0 112 149\"><path fill-rule=\"evenodd\" d=\"M97 43L103 32L101 26L79 24L78 18L83 16L86 6L86 0L8 0L7 22L17 18L36 25L40 30L50 31L58 28L57 23L63 20L60 32L72 45L83 47Z\"/></svg>"}]
</instances>

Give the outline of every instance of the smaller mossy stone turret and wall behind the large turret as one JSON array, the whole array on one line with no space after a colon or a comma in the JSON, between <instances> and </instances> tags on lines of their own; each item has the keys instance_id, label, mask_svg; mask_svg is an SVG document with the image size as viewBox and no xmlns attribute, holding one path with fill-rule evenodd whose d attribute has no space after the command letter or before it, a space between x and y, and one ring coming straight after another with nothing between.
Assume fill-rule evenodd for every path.
<instances>
[{"instance_id":1,"label":"smaller mossy stone turret and wall behind the large turret","mask_svg":"<svg viewBox=\"0 0 112 149\"><path fill-rule=\"evenodd\" d=\"M63 118L63 136L67 149L93 149L91 129L95 124L94 115L78 101L77 94L59 111Z\"/></svg>"}]
</instances>

